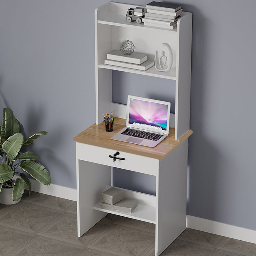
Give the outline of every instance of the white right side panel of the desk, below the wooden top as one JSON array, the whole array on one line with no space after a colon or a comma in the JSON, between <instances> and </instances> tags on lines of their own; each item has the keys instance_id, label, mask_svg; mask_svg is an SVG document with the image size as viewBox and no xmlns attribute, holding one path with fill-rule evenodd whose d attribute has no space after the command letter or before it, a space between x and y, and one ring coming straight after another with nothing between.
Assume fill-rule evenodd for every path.
<instances>
[{"instance_id":1,"label":"white right side panel of the desk, below the wooden top","mask_svg":"<svg viewBox=\"0 0 256 256\"><path fill-rule=\"evenodd\" d=\"M188 140L159 161L156 177L156 256L186 228Z\"/></svg>"}]
</instances>

